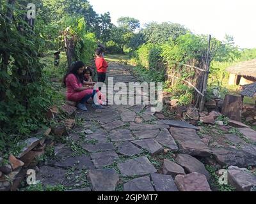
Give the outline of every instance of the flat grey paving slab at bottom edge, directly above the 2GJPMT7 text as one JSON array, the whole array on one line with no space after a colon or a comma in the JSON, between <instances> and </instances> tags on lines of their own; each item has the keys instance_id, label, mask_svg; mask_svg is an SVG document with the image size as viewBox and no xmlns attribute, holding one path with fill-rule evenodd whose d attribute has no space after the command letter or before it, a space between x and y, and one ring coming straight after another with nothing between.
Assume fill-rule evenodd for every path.
<instances>
[{"instance_id":1,"label":"flat grey paving slab at bottom edge, directly above the 2GJPMT7 text","mask_svg":"<svg viewBox=\"0 0 256 204\"><path fill-rule=\"evenodd\" d=\"M132 179L124 184L124 191L155 191L148 176Z\"/></svg>"}]
</instances>

